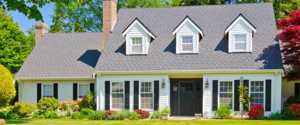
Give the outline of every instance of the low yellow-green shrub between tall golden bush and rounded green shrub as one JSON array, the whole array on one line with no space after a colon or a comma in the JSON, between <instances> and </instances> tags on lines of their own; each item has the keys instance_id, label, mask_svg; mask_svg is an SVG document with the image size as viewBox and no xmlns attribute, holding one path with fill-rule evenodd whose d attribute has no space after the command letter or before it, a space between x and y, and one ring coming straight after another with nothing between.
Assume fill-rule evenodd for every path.
<instances>
[{"instance_id":1,"label":"low yellow-green shrub between tall golden bush and rounded green shrub","mask_svg":"<svg viewBox=\"0 0 300 125\"><path fill-rule=\"evenodd\" d=\"M14 113L17 113L20 118L28 117L28 114L32 113L37 108L36 105L29 103L18 103L16 102L11 110Z\"/></svg>"}]
</instances>

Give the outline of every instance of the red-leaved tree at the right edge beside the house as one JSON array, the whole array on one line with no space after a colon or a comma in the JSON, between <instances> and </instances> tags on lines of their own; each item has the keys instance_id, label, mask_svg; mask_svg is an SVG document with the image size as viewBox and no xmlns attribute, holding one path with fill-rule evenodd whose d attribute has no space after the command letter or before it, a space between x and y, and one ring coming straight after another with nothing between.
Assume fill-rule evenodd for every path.
<instances>
[{"instance_id":1,"label":"red-leaved tree at the right edge beside the house","mask_svg":"<svg viewBox=\"0 0 300 125\"><path fill-rule=\"evenodd\" d=\"M300 79L300 10L290 12L287 18L278 21L282 32L278 34L281 40L283 64L287 65L287 81Z\"/></svg>"}]
</instances>

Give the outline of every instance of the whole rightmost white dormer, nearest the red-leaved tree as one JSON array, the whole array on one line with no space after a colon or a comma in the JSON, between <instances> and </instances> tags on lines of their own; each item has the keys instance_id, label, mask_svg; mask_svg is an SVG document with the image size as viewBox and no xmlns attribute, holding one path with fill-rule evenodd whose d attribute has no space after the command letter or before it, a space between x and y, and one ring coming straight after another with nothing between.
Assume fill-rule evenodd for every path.
<instances>
[{"instance_id":1,"label":"whole rightmost white dormer, nearest the red-leaved tree","mask_svg":"<svg viewBox=\"0 0 300 125\"><path fill-rule=\"evenodd\" d=\"M242 15L225 29L225 37L228 36L228 52L252 52L252 36L256 28Z\"/></svg>"}]
</instances>

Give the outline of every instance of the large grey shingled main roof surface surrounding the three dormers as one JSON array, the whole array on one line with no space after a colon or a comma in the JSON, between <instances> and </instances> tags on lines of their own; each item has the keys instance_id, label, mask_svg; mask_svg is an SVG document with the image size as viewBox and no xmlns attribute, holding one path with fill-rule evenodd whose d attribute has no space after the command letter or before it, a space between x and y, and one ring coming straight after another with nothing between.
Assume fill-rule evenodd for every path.
<instances>
[{"instance_id":1,"label":"large grey shingled main roof surface surrounding the three dormers","mask_svg":"<svg viewBox=\"0 0 300 125\"><path fill-rule=\"evenodd\" d=\"M252 53L228 53L224 30L240 13L257 28ZM187 15L204 37L199 53L175 54L172 31ZM272 3L120 9L117 17L95 71L283 69ZM136 17L157 35L147 55L125 54L122 32Z\"/></svg>"}]
</instances>

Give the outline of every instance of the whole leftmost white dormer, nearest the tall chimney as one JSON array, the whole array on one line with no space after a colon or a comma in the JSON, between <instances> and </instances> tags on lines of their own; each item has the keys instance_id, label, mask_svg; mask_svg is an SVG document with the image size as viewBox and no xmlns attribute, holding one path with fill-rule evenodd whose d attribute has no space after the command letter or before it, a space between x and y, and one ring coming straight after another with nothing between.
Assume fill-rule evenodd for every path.
<instances>
[{"instance_id":1,"label":"whole leftmost white dormer, nearest the tall chimney","mask_svg":"<svg viewBox=\"0 0 300 125\"><path fill-rule=\"evenodd\" d=\"M151 38L156 37L138 18L135 18L123 31L123 37L125 35L126 55L148 54Z\"/></svg>"}]
</instances>

